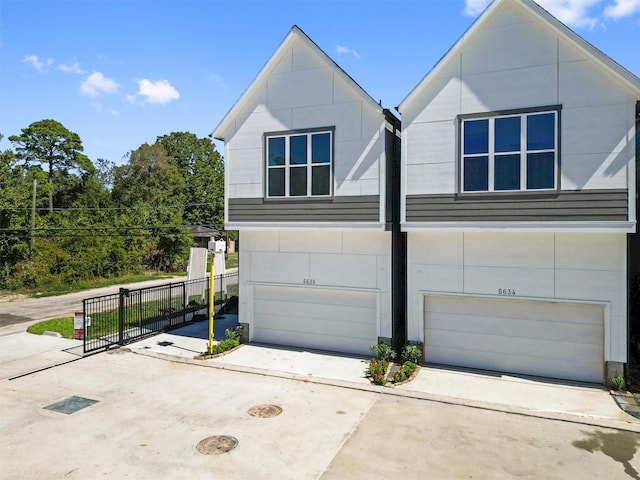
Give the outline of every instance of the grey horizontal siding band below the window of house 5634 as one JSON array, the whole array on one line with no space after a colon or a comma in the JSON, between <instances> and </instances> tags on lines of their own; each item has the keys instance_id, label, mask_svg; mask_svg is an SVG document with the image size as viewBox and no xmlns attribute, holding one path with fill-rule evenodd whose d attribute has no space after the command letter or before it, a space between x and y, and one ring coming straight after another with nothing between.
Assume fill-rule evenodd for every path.
<instances>
[{"instance_id":1,"label":"grey horizontal siding band below the window of house 5634","mask_svg":"<svg viewBox=\"0 0 640 480\"><path fill-rule=\"evenodd\" d=\"M561 191L551 195L408 195L407 222L626 221L628 193Z\"/></svg>"}]
</instances>

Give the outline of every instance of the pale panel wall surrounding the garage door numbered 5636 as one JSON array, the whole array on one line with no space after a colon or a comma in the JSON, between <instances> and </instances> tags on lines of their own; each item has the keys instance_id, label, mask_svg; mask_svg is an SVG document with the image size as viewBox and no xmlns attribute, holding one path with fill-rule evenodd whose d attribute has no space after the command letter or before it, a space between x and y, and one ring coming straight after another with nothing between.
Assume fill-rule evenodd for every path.
<instances>
[{"instance_id":1,"label":"pale panel wall surrounding the garage door numbered 5636","mask_svg":"<svg viewBox=\"0 0 640 480\"><path fill-rule=\"evenodd\" d=\"M253 288L267 285L373 293L377 317L368 321L391 337L391 232L242 230L239 246L239 318L250 329Z\"/></svg>"}]
</instances>

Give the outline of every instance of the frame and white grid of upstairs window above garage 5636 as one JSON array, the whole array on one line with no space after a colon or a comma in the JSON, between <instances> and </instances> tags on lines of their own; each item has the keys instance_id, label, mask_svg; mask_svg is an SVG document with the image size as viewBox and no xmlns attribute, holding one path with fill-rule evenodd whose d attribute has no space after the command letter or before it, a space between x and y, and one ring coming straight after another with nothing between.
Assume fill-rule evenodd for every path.
<instances>
[{"instance_id":1,"label":"frame and white grid of upstairs window above garage 5636","mask_svg":"<svg viewBox=\"0 0 640 480\"><path fill-rule=\"evenodd\" d=\"M309 129L309 130L290 130L286 132L270 132L264 134L264 151L265 151L265 198L269 199L282 199L282 198L291 198L291 199L303 199L303 198L330 198L333 195L333 156L334 156L334 128L318 128L318 129ZM313 163L312 162L312 137L313 135L319 134L329 134L329 162L325 163ZM307 163L306 164L291 164L291 137L298 136L306 136L307 137ZM284 138L284 148L285 148L285 163L284 165L269 165L269 139L272 138ZM329 167L329 193L324 195L313 195L313 167L319 166L328 166ZM306 195L291 195L291 180L290 173L292 168L296 167L305 167L307 169L307 194ZM271 169L284 169L285 175L285 186L284 186L284 195L269 195L269 171Z\"/></svg>"}]
</instances>

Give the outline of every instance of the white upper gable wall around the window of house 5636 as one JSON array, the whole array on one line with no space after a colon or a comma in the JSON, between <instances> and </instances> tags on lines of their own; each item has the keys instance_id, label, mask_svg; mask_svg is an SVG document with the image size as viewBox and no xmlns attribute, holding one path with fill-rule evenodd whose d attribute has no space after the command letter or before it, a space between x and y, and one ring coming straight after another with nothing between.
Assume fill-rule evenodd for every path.
<instances>
[{"instance_id":1,"label":"white upper gable wall around the window of house 5636","mask_svg":"<svg viewBox=\"0 0 640 480\"><path fill-rule=\"evenodd\" d=\"M229 198L264 196L265 132L335 126L336 195L379 195L384 117L296 39L226 137Z\"/></svg>"}]
</instances>

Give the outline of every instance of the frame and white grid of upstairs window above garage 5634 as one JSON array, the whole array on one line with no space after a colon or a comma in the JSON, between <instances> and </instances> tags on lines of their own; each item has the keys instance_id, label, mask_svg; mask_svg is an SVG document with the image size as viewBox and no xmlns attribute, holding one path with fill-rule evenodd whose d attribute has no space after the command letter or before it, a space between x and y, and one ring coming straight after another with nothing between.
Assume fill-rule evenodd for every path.
<instances>
[{"instance_id":1,"label":"frame and white grid of upstairs window above garage 5634","mask_svg":"<svg viewBox=\"0 0 640 480\"><path fill-rule=\"evenodd\" d=\"M462 196L499 196L499 195L522 195L522 194L549 194L549 193L557 193L560 191L560 180L561 180L561 132L562 132L562 105L547 105L533 108L519 108L512 110L501 110L494 112L483 112L483 113L473 113L473 114L461 114L457 117L457 187L458 187L458 195ZM522 139L520 143L520 172L521 172L521 183L520 189L495 189L494 180L495 180L495 161L496 156L500 155L509 155L512 152L496 152L494 148L495 139L489 139L489 151L486 154L488 158L488 167L487 167L487 189L486 190L466 190L464 188L464 163L465 156L467 158L477 156L481 157L481 154L477 155L465 155L464 152L464 124L465 122L472 120L489 120L492 123L492 126L489 128L488 135L489 138L491 134L494 132L495 120L498 118L507 118L507 117L521 117L524 120L521 120L521 124L526 123L526 117L530 115L541 115L545 113L553 113L555 115L555 147L553 149L554 152L554 185L552 188L527 188L527 154L528 153L537 153L537 152L549 152L551 149L545 150L536 150L536 149L527 149L527 137L522 134ZM522 132L521 132L522 133ZM492 148L493 147L493 148ZM499 155L496 155L498 153ZM525 172L523 172L523 169ZM493 178L492 178L493 176ZM493 188L492 188L493 186Z\"/></svg>"}]
</instances>

